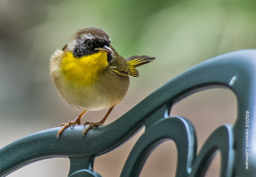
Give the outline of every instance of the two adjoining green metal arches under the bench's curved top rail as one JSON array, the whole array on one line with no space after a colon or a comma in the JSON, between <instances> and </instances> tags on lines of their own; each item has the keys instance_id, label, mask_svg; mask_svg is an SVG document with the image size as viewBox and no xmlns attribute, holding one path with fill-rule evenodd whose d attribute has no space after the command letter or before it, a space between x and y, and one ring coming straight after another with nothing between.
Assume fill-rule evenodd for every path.
<instances>
[{"instance_id":1,"label":"two adjoining green metal arches under the bench's curved top rail","mask_svg":"<svg viewBox=\"0 0 256 177\"><path fill-rule=\"evenodd\" d=\"M160 133L156 133L161 130ZM212 132L196 156L196 136L193 125L182 117L162 118L153 124L137 141L121 176L139 176L145 160L160 143L172 139L177 147L178 159L175 176L204 176L217 151L221 153L221 176L232 176L234 139L232 126L223 125Z\"/></svg>"}]
</instances>

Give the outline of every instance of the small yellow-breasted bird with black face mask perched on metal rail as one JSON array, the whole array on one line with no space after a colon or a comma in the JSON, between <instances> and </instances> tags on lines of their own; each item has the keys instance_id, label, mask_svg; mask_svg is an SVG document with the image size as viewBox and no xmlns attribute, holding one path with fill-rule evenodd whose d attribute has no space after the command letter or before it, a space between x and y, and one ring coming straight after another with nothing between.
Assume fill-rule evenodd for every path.
<instances>
[{"instance_id":1,"label":"small yellow-breasted bird with black face mask perched on metal rail","mask_svg":"<svg viewBox=\"0 0 256 177\"><path fill-rule=\"evenodd\" d=\"M71 122L61 124L57 138L70 125L81 125L88 110L109 108L100 122L85 122L88 127L83 136L92 127L103 125L114 106L124 99L129 76L139 77L135 67L154 59L135 55L125 60L110 45L110 38L102 29L88 27L75 32L62 50L52 54L50 72L60 95L83 112Z\"/></svg>"}]
</instances>

